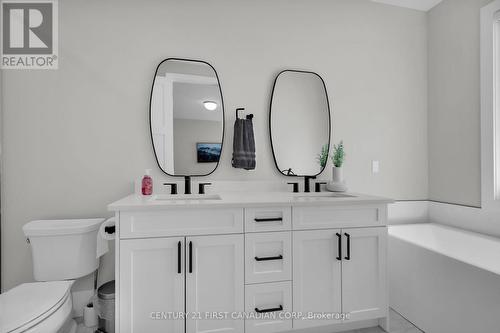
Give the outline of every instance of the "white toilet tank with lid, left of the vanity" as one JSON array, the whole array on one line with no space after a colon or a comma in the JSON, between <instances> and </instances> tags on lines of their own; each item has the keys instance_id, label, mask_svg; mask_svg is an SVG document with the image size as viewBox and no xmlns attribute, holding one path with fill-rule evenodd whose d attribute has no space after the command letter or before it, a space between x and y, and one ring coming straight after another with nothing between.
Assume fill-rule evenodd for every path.
<instances>
[{"instance_id":1,"label":"white toilet tank with lid, left of the vanity","mask_svg":"<svg viewBox=\"0 0 500 333\"><path fill-rule=\"evenodd\" d=\"M77 279L99 266L97 233L104 219L38 220L24 225L36 281Z\"/></svg>"}]
</instances>

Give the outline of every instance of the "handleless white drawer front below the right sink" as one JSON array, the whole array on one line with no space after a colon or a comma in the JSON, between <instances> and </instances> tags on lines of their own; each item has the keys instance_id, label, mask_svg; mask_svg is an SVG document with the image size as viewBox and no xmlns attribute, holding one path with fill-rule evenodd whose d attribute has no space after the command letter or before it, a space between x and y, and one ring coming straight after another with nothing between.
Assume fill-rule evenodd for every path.
<instances>
[{"instance_id":1,"label":"handleless white drawer front below the right sink","mask_svg":"<svg viewBox=\"0 0 500 333\"><path fill-rule=\"evenodd\" d=\"M332 229L385 225L385 205L294 207L293 229Z\"/></svg>"}]
</instances>

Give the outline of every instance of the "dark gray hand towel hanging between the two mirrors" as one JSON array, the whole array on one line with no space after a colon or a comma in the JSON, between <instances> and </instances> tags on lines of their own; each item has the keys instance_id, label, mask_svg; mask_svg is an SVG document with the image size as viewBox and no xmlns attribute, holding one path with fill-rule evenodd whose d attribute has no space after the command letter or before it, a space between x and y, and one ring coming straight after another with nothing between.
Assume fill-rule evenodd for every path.
<instances>
[{"instance_id":1,"label":"dark gray hand towel hanging between the two mirrors","mask_svg":"<svg viewBox=\"0 0 500 333\"><path fill-rule=\"evenodd\" d=\"M236 119L234 122L232 164L234 168L255 169L255 138L252 119Z\"/></svg>"}]
</instances>

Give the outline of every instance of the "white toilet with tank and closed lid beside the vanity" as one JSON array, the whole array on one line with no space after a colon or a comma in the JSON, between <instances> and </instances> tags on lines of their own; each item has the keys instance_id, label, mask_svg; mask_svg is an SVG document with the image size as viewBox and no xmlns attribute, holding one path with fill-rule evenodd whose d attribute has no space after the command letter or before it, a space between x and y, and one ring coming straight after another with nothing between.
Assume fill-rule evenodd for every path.
<instances>
[{"instance_id":1,"label":"white toilet with tank and closed lid beside the vanity","mask_svg":"<svg viewBox=\"0 0 500 333\"><path fill-rule=\"evenodd\" d=\"M23 227L36 281L0 294L0 332L74 333L71 286L99 266L97 233L104 219L33 221Z\"/></svg>"}]
</instances>

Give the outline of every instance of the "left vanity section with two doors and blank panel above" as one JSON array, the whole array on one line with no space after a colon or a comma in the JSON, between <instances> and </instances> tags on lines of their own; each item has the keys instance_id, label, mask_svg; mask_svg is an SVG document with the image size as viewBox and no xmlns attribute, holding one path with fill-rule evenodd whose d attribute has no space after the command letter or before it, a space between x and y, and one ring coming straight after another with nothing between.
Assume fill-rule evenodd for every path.
<instances>
[{"instance_id":1,"label":"left vanity section with two doors and blank panel above","mask_svg":"<svg viewBox=\"0 0 500 333\"><path fill-rule=\"evenodd\" d=\"M244 311L242 208L118 218L119 332L243 332L243 321L215 316Z\"/></svg>"}]
</instances>

